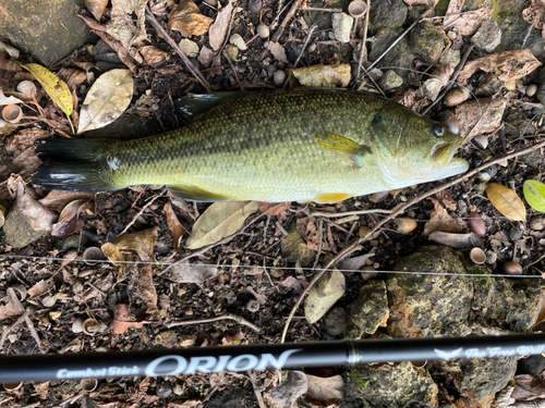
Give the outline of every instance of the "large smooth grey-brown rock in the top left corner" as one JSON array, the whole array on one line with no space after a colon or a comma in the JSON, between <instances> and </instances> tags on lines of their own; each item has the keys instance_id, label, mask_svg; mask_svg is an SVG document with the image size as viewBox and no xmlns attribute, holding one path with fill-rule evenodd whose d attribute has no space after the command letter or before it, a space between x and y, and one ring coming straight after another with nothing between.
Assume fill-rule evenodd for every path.
<instances>
[{"instance_id":1,"label":"large smooth grey-brown rock in the top left corner","mask_svg":"<svg viewBox=\"0 0 545 408\"><path fill-rule=\"evenodd\" d=\"M85 10L84 0L10 0L1 4L2 36L44 65L87 44L89 30L77 16Z\"/></svg>"}]
</instances>

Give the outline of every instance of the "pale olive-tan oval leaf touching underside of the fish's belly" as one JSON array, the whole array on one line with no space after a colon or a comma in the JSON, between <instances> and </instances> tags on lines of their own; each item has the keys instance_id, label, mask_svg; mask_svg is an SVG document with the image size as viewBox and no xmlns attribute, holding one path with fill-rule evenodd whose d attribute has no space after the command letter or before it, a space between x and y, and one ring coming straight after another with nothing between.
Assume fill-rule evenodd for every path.
<instances>
[{"instance_id":1,"label":"pale olive-tan oval leaf touching underside of the fish's belly","mask_svg":"<svg viewBox=\"0 0 545 408\"><path fill-rule=\"evenodd\" d=\"M197 249L239 231L246 218L257 211L257 201L215 202L197 219L187 238L187 249Z\"/></svg>"}]
</instances>

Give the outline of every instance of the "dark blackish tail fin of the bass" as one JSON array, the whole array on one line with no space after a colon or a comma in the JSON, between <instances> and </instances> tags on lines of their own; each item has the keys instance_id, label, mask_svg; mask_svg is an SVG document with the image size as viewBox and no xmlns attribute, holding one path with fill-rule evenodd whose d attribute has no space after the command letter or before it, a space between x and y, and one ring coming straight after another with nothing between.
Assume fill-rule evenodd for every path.
<instances>
[{"instance_id":1,"label":"dark blackish tail fin of the bass","mask_svg":"<svg viewBox=\"0 0 545 408\"><path fill-rule=\"evenodd\" d=\"M44 161L33 183L49 189L100 191L117 189L109 180L102 147L118 140L39 139L36 154Z\"/></svg>"}]
</instances>

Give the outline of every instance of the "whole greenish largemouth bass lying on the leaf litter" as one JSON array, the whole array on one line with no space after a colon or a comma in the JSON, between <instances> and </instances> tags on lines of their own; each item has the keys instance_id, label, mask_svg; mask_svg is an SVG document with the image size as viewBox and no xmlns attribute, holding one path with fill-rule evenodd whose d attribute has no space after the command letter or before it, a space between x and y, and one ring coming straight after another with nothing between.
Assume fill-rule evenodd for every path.
<instances>
[{"instance_id":1,"label":"whole greenish largemouth bass lying on the leaf litter","mask_svg":"<svg viewBox=\"0 0 545 408\"><path fill-rule=\"evenodd\" d=\"M43 139L34 183L61 190L166 184L196 201L338 202L468 170L461 137L367 94L247 94L189 126L131 141Z\"/></svg>"}]
</instances>

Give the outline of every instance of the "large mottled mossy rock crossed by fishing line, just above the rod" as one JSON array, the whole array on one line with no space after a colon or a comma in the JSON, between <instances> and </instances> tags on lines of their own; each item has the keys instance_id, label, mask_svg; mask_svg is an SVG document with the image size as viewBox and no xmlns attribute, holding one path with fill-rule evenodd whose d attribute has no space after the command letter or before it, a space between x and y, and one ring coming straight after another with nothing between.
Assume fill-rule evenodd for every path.
<instances>
[{"instance_id":1,"label":"large mottled mossy rock crossed by fishing line, just above the rod","mask_svg":"<svg viewBox=\"0 0 545 408\"><path fill-rule=\"evenodd\" d=\"M473 298L470 279L440 275L465 274L460 259L443 246L422 247L399 259L393 271L434 272L429 275L390 275L386 280L392 337L467 335ZM424 306L425 305L425 306Z\"/></svg>"}]
</instances>

